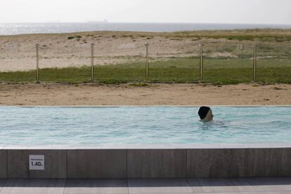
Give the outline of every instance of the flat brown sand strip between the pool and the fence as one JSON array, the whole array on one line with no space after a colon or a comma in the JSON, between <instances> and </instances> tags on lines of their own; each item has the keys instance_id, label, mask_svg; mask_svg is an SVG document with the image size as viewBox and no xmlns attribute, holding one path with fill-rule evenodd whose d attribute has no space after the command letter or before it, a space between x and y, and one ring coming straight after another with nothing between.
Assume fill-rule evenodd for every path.
<instances>
[{"instance_id":1,"label":"flat brown sand strip between the pool and the fence","mask_svg":"<svg viewBox=\"0 0 291 194\"><path fill-rule=\"evenodd\" d=\"M0 84L0 105L291 105L290 84Z\"/></svg>"}]
</instances>

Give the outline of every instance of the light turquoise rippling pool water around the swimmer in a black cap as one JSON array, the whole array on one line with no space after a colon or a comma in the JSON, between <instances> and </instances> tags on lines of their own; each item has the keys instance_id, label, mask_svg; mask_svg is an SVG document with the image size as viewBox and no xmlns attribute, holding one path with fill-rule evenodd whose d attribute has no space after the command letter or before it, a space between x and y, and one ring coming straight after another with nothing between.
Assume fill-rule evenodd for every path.
<instances>
[{"instance_id":1,"label":"light turquoise rippling pool water around the swimmer in a black cap","mask_svg":"<svg viewBox=\"0 0 291 194\"><path fill-rule=\"evenodd\" d=\"M0 146L291 143L291 107L0 107Z\"/></svg>"}]
</instances>

